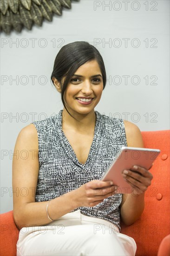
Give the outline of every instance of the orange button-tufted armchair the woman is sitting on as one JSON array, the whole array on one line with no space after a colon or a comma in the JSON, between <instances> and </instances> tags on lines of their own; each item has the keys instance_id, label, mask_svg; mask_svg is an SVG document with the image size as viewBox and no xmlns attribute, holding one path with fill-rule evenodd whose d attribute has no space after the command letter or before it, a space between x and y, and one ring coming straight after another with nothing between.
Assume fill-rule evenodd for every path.
<instances>
[{"instance_id":1,"label":"orange button-tufted armchair the woman is sitting on","mask_svg":"<svg viewBox=\"0 0 170 256\"><path fill-rule=\"evenodd\" d=\"M142 136L145 148L159 148L161 153L150 169L153 180L145 192L144 212L131 226L121 223L121 233L135 239L136 256L163 256L165 236L166 252L170 248L170 130L142 132ZM0 256L16 256L19 232L13 211L0 215Z\"/></svg>"}]
</instances>

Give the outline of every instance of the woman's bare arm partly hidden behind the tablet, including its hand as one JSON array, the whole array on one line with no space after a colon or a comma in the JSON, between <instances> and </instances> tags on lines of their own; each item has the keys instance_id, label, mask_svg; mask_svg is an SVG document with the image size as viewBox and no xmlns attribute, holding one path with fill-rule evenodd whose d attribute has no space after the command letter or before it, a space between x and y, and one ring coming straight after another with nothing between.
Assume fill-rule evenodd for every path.
<instances>
[{"instance_id":1,"label":"woman's bare arm partly hidden behind the tablet, including its hand","mask_svg":"<svg viewBox=\"0 0 170 256\"><path fill-rule=\"evenodd\" d=\"M139 128L131 122L124 121L127 146L144 148L142 135ZM128 170L128 174L124 175L127 182L131 183L132 187L140 189L140 194L135 194L135 190L131 194L123 194L122 203L120 206L120 214L123 222L126 225L134 223L144 211L144 191L150 186L152 179L151 173L141 167L138 169L131 168ZM140 172L140 174L134 173L134 171Z\"/></svg>"}]
</instances>

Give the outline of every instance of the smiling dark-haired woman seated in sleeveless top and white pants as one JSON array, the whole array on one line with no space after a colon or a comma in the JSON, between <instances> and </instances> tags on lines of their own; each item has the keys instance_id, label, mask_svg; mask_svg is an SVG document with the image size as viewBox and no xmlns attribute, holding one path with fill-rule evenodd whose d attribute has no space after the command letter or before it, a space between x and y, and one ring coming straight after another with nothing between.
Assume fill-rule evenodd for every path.
<instances>
[{"instance_id":1,"label":"smiling dark-haired woman seated in sleeveless top and white pants","mask_svg":"<svg viewBox=\"0 0 170 256\"><path fill-rule=\"evenodd\" d=\"M13 157L13 190L20 191L13 194L17 255L135 255L133 238L119 233L120 216L126 225L139 218L152 175L139 166L124 170L135 196L116 193L100 178L122 146L144 147L141 132L94 110L106 73L88 42L62 47L51 79L63 110L23 128L14 149L29 152Z\"/></svg>"}]
</instances>

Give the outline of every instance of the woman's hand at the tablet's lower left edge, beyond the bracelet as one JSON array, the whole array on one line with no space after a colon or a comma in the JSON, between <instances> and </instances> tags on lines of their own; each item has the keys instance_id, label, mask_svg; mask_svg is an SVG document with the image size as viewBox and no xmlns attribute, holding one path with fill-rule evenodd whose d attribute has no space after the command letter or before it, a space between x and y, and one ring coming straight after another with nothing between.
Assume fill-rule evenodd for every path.
<instances>
[{"instance_id":1,"label":"woman's hand at the tablet's lower left edge, beyond the bracelet","mask_svg":"<svg viewBox=\"0 0 170 256\"><path fill-rule=\"evenodd\" d=\"M92 207L103 202L108 196L114 195L118 187L111 184L111 181L93 180L85 183L76 192L78 207Z\"/></svg>"}]
</instances>

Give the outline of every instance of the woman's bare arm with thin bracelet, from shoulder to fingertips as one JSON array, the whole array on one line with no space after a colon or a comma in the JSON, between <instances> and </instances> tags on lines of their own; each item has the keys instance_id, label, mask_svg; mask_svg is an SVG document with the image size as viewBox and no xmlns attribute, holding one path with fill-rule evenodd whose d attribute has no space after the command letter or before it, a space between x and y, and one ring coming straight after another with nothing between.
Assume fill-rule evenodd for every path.
<instances>
[{"instance_id":1,"label":"woman's bare arm with thin bracelet, from shoulder to fingertips","mask_svg":"<svg viewBox=\"0 0 170 256\"><path fill-rule=\"evenodd\" d=\"M39 175L38 135L33 124L23 128L18 135L13 155L13 217L19 229L24 226L42 226L50 223L46 214L56 220L80 206L94 206L114 194L110 182L93 180L51 201L35 202ZM24 151L22 151L24 150ZM25 155L24 155L25 152ZM27 155L26 155L27 154ZM103 189L107 187L107 189Z\"/></svg>"}]
</instances>

